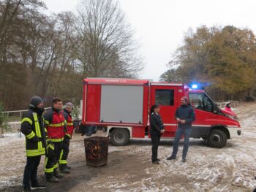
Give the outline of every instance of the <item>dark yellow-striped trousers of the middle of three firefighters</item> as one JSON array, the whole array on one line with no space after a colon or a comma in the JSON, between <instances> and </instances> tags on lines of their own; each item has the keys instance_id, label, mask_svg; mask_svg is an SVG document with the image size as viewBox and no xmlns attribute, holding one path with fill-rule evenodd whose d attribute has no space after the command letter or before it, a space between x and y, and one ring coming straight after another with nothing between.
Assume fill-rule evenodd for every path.
<instances>
[{"instance_id":1,"label":"dark yellow-striped trousers of the middle of three firefighters","mask_svg":"<svg viewBox=\"0 0 256 192\"><path fill-rule=\"evenodd\" d=\"M53 172L56 172L59 167L59 158L61 156L61 150L63 142L52 142L54 145L54 155L45 158L45 174L46 176L52 176Z\"/></svg>"}]
</instances>

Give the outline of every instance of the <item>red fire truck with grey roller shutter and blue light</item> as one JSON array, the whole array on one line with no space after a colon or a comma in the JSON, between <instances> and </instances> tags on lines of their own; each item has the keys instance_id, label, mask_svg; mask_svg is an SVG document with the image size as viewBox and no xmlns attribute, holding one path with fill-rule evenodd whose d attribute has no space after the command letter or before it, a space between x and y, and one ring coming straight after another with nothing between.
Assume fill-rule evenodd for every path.
<instances>
[{"instance_id":1,"label":"red fire truck with grey roller shutter and blue light","mask_svg":"<svg viewBox=\"0 0 256 192\"><path fill-rule=\"evenodd\" d=\"M165 126L162 138L172 138L177 128L174 114L182 96L187 96L195 108L191 137L220 148L227 139L241 135L238 119L220 110L204 91L183 83L108 78L83 80L80 128L102 128L113 145L127 145L130 138L150 138L149 109L158 104Z\"/></svg>"}]
</instances>

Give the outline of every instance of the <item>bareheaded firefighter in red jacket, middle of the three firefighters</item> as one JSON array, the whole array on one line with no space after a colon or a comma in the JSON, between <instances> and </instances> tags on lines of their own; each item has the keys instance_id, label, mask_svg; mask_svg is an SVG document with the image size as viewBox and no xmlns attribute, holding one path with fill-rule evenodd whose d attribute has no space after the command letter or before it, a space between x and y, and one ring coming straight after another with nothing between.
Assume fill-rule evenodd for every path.
<instances>
[{"instance_id":1,"label":"bareheaded firefighter in red jacket, middle of the three firefighters","mask_svg":"<svg viewBox=\"0 0 256 192\"><path fill-rule=\"evenodd\" d=\"M64 126L65 119L62 112L62 101L61 99L54 98L53 106L50 110L45 112L45 128L47 129L47 156L45 158L45 177L49 182L59 182L59 179L63 177L59 174L59 157L63 147L64 140Z\"/></svg>"}]
</instances>

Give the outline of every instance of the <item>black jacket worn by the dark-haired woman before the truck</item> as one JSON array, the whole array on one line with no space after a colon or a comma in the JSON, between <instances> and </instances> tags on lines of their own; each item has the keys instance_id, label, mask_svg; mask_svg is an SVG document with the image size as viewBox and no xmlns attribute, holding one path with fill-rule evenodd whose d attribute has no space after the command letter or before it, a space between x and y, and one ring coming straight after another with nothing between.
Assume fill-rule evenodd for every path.
<instances>
[{"instance_id":1,"label":"black jacket worn by the dark-haired woman before the truck","mask_svg":"<svg viewBox=\"0 0 256 192\"><path fill-rule=\"evenodd\" d=\"M150 116L150 134L161 134L161 130L164 129L161 116L155 112Z\"/></svg>"}]
</instances>

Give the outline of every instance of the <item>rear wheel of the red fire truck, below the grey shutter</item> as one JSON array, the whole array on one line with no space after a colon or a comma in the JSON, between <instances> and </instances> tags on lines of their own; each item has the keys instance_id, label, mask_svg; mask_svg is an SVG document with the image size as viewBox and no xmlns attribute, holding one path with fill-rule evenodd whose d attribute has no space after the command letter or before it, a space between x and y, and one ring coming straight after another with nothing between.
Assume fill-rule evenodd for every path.
<instances>
[{"instance_id":1,"label":"rear wheel of the red fire truck, below the grey shutter","mask_svg":"<svg viewBox=\"0 0 256 192\"><path fill-rule=\"evenodd\" d=\"M129 142L129 131L125 128L115 128L111 131L110 142L116 146L124 146Z\"/></svg>"}]
</instances>

